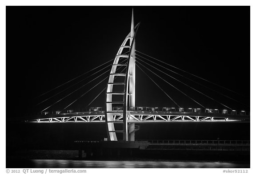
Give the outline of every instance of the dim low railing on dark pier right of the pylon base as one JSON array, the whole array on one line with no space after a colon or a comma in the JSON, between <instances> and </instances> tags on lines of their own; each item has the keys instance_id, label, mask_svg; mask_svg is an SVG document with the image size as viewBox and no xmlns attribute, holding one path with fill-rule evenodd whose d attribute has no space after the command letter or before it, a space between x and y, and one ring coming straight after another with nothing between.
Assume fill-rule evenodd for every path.
<instances>
[{"instance_id":1,"label":"dim low railing on dark pier right of the pylon base","mask_svg":"<svg viewBox=\"0 0 256 174\"><path fill-rule=\"evenodd\" d=\"M249 140L136 140L147 141L152 144L173 144L173 145L250 145Z\"/></svg>"}]
</instances>

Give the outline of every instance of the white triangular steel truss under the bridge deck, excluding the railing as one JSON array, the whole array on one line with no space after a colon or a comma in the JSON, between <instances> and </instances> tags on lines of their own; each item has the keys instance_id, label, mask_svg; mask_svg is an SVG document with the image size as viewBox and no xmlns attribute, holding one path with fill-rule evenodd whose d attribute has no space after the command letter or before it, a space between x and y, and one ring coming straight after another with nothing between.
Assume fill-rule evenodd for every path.
<instances>
[{"instance_id":1,"label":"white triangular steel truss under the bridge deck, excluding the railing","mask_svg":"<svg viewBox=\"0 0 256 174\"><path fill-rule=\"evenodd\" d=\"M29 123L105 123L105 113L100 112L75 112L41 116L33 120L25 120ZM127 122L144 123L203 123L203 122L249 122L248 115L233 115L220 113L193 113L193 112L147 112L147 111L128 111ZM112 123L123 123L122 112L116 112Z\"/></svg>"}]
</instances>

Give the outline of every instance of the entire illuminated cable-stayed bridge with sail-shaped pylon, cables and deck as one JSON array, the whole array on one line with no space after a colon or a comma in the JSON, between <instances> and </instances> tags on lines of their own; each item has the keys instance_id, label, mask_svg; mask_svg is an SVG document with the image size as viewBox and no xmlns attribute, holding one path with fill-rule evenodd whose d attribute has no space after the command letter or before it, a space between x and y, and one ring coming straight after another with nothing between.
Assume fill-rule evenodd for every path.
<instances>
[{"instance_id":1,"label":"entire illuminated cable-stayed bridge with sail-shaped pylon, cables and deck","mask_svg":"<svg viewBox=\"0 0 256 174\"><path fill-rule=\"evenodd\" d=\"M91 81L86 82L81 87L75 89L71 93L68 93L68 95L60 98L58 101L50 104L48 107L43 108L40 111L40 114L38 114L37 116L33 116L33 118L26 119L25 122L28 122L28 123L72 122L72 123L88 123L88 124L102 123L102 124L106 124L106 131L107 131L109 141L118 141L118 140L134 141L135 132L139 130L139 126L136 124L177 123L177 122L182 122L182 123L205 123L205 122L207 123L212 123L212 122L246 123L246 122L250 122L250 112L245 110L241 110L241 111L235 110L234 108L228 106L227 104L224 104L221 101L214 99L210 95L207 95L201 92L200 90L191 87L187 83L184 83L183 81L170 75L170 73L166 73L166 72L168 71L168 72L174 73L177 76L182 77L183 79L192 81L193 83L196 83L197 85L204 87L205 89L211 90L214 93L218 93L219 95L227 97L229 100L245 105L244 103L241 103L240 101L232 97L229 97L223 93L220 93L215 89L209 88L206 85L203 85L195 80L192 80L191 78L188 78L185 75L177 73L176 71L171 70L171 68L188 74L188 72L185 70L172 66L168 63L161 61L160 59L154 58L152 56L149 56L148 54L144 54L139 50L136 50L135 38L138 32L139 26L140 26L140 23L136 25L134 24L134 16L132 11L131 31L125 37L123 43L119 47L116 57L40 95L39 97L42 97L45 94L52 92L66 84L70 84L72 81L79 79L85 74L89 74L86 78L76 83L73 83L72 85L69 85L68 88L65 88L60 92L55 93L53 96L48 97L45 100L41 101L40 103L37 104L38 106L40 106L40 104L42 103L45 103L49 99L59 95L60 93L63 93L64 91L70 89L72 86L77 85L82 81L85 81L89 77L97 75ZM136 67L138 68L138 70L140 70L141 73L144 73L145 76L148 77L149 80L152 81L152 83L156 85L170 99L170 101L172 101L173 106L170 106L170 107L136 106L136 100L135 100ZM160 80L164 81L167 85L170 85L170 87L175 89L177 93L180 93L180 95L184 95L185 97L188 98L188 100L195 102L198 105L198 107L182 108L181 107L182 104L177 103L175 101L175 98L173 98L170 94L168 94L168 91L165 91L162 87L160 87L160 85L147 72L150 72L151 74L158 77ZM180 84L183 84L188 88L192 89L193 91L196 91L196 93L203 95L209 100L222 105L225 109L204 107L204 105L201 104L200 101L192 98L187 92L179 89L177 86L173 85L170 81L166 80L164 77L161 77L159 73L172 78L173 81L177 81ZM236 93L235 91L232 91L216 83L208 81L202 77L196 76L192 73L189 73L189 74L197 79L206 81L211 85L218 86L220 88L223 88L224 90L228 90L231 93ZM82 89L84 86L91 84L93 81L95 82L97 79L100 79L100 77L104 77L104 75L105 76L107 75L107 77L105 77L103 80L98 82L91 89L87 90L85 93L83 93L81 96L76 98L76 100L72 101L63 109L56 110L56 111L49 111L52 108L52 106L54 106L55 104L63 101L65 98L67 98L68 96L71 96L76 91ZM100 93L97 93L96 97L92 101L90 101L90 103L87 105L87 107L90 106L90 104L92 104L92 102L94 102L100 95L105 95L104 106L90 108L88 111L80 111L80 110L77 111L77 110L70 109L71 106L74 103L76 103L76 101L84 97L92 89L96 88L96 86L100 84L102 85L103 82L106 80L108 80L106 87L102 89ZM236 94L240 95L238 93ZM122 124L122 129L121 130L118 129L116 124ZM118 139L119 136L117 136L117 134L122 134L122 139Z\"/></svg>"}]
</instances>

